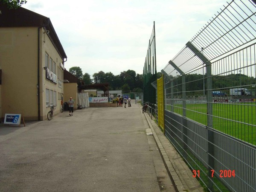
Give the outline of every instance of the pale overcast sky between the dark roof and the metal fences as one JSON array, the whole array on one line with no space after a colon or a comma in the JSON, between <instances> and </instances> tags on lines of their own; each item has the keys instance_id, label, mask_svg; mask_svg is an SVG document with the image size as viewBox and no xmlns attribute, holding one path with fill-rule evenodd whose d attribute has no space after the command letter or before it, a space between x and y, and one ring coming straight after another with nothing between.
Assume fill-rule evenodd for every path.
<instances>
[{"instance_id":1,"label":"pale overcast sky between the dark roof and the metal fences","mask_svg":"<svg viewBox=\"0 0 256 192\"><path fill-rule=\"evenodd\" d=\"M230 0L228 0L230 2ZM143 74L155 21L157 72L227 5L224 0L28 0L49 17L67 55L83 73Z\"/></svg>"}]
</instances>

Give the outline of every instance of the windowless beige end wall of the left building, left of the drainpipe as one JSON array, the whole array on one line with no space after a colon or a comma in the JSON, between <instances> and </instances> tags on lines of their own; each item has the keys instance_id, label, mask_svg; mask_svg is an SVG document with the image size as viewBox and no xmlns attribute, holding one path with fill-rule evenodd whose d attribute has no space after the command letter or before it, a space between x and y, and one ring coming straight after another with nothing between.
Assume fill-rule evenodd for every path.
<instances>
[{"instance_id":1,"label":"windowless beige end wall of the left building, left of the drainpipe","mask_svg":"<svg viewBox=\"0 0 256 192\"><path fill-rule=\"evenodd\" d=\"M0 28L2 114L21 113L37 119L37 30Z\"/></svg>"}]
</instances>

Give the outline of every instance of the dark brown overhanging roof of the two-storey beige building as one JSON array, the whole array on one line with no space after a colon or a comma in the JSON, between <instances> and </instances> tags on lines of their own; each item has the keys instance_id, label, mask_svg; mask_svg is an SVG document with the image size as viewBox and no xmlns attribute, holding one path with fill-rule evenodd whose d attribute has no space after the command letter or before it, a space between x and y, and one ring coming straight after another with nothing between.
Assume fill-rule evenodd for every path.
<instances>
[{"instance_id":1,"label":"dark brown overhanging roof of the two-storey beige building","mask_svg":"<svg viewBox=\"0 0 256 192\"><path fill-rule=\"evenodd\" d=\"M61 45L58 35L52 26L52 22L48 17L32 12L23 7L18 9L8 9L3 3L0 3L0 27L44 27L49 30L49 38L52 40L52 44L57 49L61 58L67 58L67 55Z\"/></svg>"}]
</instances>

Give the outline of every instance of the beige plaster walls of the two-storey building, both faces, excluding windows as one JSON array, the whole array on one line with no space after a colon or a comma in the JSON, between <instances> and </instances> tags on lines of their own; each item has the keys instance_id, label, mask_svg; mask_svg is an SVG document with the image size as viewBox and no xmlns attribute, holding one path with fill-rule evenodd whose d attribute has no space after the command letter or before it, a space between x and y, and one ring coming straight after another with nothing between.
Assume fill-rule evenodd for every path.
<instances>
[{"instance_id":1,"label":"beige plaster walls of the two-storey building, both faces, excluding windows","mask_svg":"<svg viewBox=\"0 0 256 192\"><path fill-rule=\"evenodd\" d=\"M25 121L38 120L38 28L1 27L0 37L0 69L2 69L0 117L3 120L5 113L21 113ZM49 89L57 93L55 114L61 108L58 93L64 93L63 86L59 87L58 82L53 84L46 80L46 72L43 70L46 64L46 52L52 61L55 61L56 73L58 73L62 59L41 28L39 54L41 120L47 119L49 111L49 107L46 106L45 90ZM63 78L63 71L61 70L60 73Z\"/></svg>"}]
</instances>

